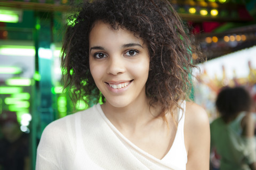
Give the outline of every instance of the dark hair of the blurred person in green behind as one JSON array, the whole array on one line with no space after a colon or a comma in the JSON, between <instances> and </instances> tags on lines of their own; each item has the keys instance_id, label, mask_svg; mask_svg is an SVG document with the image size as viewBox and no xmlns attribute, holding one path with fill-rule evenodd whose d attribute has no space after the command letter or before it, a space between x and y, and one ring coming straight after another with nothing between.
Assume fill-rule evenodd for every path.
<instances>
[{"instance_id":1,"label":"dark hair of the blurred person in green behind","mask_svg":"<svg viewBox=\"0 0 256 170\"><path fill-rule=\"evenodd\" d=\"M253 100L243 87L224 87L216 99L216 107L223 120L228 123L239 113L250 112Z\"/></svg>"}]
</instances>

